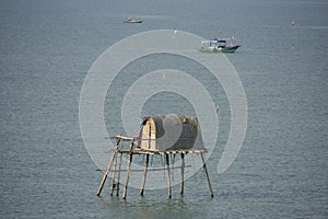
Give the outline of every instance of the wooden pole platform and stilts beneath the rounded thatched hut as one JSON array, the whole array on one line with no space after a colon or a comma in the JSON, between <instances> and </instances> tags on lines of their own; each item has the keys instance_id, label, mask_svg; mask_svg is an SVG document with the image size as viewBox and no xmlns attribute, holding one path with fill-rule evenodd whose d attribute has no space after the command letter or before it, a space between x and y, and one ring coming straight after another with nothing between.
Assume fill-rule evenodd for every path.
<instances>
[{"instance_id":1,"label":"wooden pole platform and stilts beneath the rounded thatched hut","mask_svg":"<svg viewBox=\"0 0 328 219\"><path fill-rule=\"evenodd\" d=\"M110 183L110 196L113 196L114 191L116 188L116 196L119 195L119 184L120 184L120 172L121 170L121 158L122 154L128 154L128 166L127 166L127 178L124 185L124 193L122 193L122 198L126 199L127 198L127 191L128 191L128 184L129 184L129 177L130 177L130 172L131 172L131 163L132 163L132 157L133 154L144 154L145 155L145 162L144 162L144 170L143 170L143 180L142 180L142 184L141 184L141 188L140 188L140 195L143 196L143 192L144 192L144 186L145 186L145 181L147 181L147 173L149 171L149 160L150 160L150 155L155 155L155 154L164 154L165 155L165 165L166 165L166 170L167 170L167 185L168 185L168 198L172 198L172 188L171 188L171 170L169 170L169 154L180 154L181 158L181 165L180 171L181 171L181 181L180 181L180 194L184 194L184 172L185 172L185 155L187 155L188 153L197 153L200 154L201 160L202 160L202 166L206 173L206 177L208 181L208 185L210 188L210 195L211 197L213 197L213 191L212 191L212 186L210 183L210 178L209 178L209 173L207 170L207 165L204 162L204 158L203 158L203 153L207 152L207 149L178 149L178 150L164 150L164 151L157 151L157 150L145 150L145 149L138 149L134 147L134 141L138 140L138 138L132 138L132 137L126 137L126 136L116 136L114 137L116 139L116 143L115 143L115 149L113 149L112 151L114 152L108 165L104 172L101 185L98 187L97 191L97 196L101 195L103 187L105 185L106 178L109 174L109 172L113 172L112 175L112 183ZM130 141L129 148L122 148L120 147L120 142L125 140L125 141ZM164 168L165 170L165 168Z\"/></svg>"}]
</instances>

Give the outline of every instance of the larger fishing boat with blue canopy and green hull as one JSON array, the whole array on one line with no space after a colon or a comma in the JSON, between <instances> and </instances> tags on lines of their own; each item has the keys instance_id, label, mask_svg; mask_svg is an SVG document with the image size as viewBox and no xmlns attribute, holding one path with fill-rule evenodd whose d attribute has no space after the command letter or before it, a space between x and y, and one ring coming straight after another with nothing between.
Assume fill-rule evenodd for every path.
<instances>
[{"instance_id":1,"label":"larger fishing boat with blue canopy and green hull","mask_svg":"<svg viewBox=\"0 0 328 219\"><path fill-rule=\"evenodd\" d=\"M204 53L235 53L241 47L241 45L232 43L235 39L236 37L201 41L200 50Z\"/></svg>"}]
</instances>

